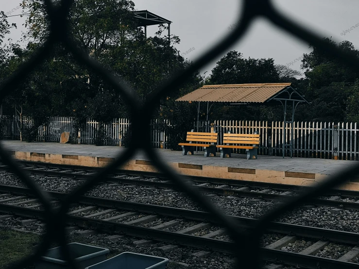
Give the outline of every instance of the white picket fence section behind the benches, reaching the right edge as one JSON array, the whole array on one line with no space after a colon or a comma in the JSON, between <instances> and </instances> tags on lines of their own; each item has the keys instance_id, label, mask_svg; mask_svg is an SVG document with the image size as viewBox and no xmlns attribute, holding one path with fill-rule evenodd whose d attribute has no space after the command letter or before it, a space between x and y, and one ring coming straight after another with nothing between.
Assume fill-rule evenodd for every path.
<instances>
[{"instance_id":1,"label":"white picket fence section behind the benches, reaching the right edge","mask_svg":"<svg viewBox=\"0 0 359 269\"><path fill-rule=\"evenodd\" d=\"M219 134L219 142L224 133L260 134L258 154L282 156L283 138L291 142L291 124L277 121L235 121L215 120L211 124ZM201 126L201 125L200 125ZM357 123L334 122L294 122L293 157L359 160L359 129ZM244 153L244 151L237 151ZM285 156L290 156L289 148Z\"/></svg>"}]
</instances>

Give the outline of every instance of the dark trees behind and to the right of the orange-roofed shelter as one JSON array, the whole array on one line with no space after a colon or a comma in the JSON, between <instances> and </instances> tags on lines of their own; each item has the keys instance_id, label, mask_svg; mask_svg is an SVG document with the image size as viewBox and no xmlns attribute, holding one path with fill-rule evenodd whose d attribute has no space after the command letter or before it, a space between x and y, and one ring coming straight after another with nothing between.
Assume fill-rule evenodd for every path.
<instances>
[{"instance_id":1,"label":"dark trees behind and to the right of the orange-roofed shelter","mask_svg":"<svg viewBox=\"0 0 359 269\"><path fill-rule=\"evenodd\" d=\"M352 43L335 44L340 50L358 58L359 50ZM206 84L243 84L291 82L305 95L310 105L298 106L295 120L354 121L359 119L358 72L346 67L326 51L309 45L312 52L303 55L304 77L298 71L275 65L273 59L244 59L237 51L230 51L215 68ZM291 108L290 108L291 109ZM283 120L283 109L278 106L222 106L215 105L213 119Z\"/></svg>"}]
</instances>

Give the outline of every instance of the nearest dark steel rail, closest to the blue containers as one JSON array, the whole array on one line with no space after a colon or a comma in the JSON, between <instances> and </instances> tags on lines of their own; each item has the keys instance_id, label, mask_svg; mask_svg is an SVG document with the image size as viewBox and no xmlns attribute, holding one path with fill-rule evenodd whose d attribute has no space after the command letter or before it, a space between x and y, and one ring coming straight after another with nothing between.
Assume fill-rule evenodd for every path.
<instances>
[{"instance_id":1,"label":"nearest dark steel rail, closest to the blue containers","mask_svg":"<svg viewBox=\"0 0 359 269\"><path fill-rule=\"evenodd\" d=\"M0 211L4 213L12 213L21 217L45 219L45 212L37 209L30 209L26 207L14 206L9 204L0 204ZM84 217L68 215L66 223L86 229L95 229L98 231L120 233L129 236L146 238L148 240L157 240L168 242L171 244L178 244L188 247L206 249L210 251L224 252L233 254L236 244L217 240L212 238L204 238L195 235L185 235L175 232L157 230L152 228L132 226L123 223L104 221L98 219L88 219ZM341 269L356 269L359 264L342 262L339 260L332 260L311 255L303 255L294 252L285 252L280 250L273 250L267 248L260 248L263 260L280 261L281 263L293 266L306 266L310 269L317 268L341 268Z\"/></svg>"}]
</instances>

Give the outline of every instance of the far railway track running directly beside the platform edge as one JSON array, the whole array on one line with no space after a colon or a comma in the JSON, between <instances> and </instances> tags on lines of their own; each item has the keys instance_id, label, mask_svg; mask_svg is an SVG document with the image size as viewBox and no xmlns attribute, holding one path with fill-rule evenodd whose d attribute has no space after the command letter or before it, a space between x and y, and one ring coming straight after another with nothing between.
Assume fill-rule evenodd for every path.
<instances>
[{"instance_id":1,"label":"far railway track running directly beside the platform edge","mask_svg":"<svg viewBox=\"0 0 359 269\"><path fill-rule=\"evenodd\" d=\"M20 162L21 167L34 175L52 176L58 178L87 180L99 168L81 167L81 166L64 166L44 163L34 163L23 161ZM8 171L8 167L0 165L0 171ZM207 178L187 176L201 192L253 198L264 201L283 202L291 199L294 195L298 195L306 191L310 187L297 185L282 185L273 183L261 183L251 181L228 180L220 178ZM118 170L112 175L108 175L104 181L109 183L118 183L125 185L136 185L146 187L156 187L163 189L178 189L176 185L171 183L165 176L160 173ZM341 209L359 210L359 202L348 202L345 199L350 198L359 200L359 192L348 190L331 190L327 192L325 198L313 199L310 204L317 206L337 207ZM348 200L348 199L347 199Z\"/></svg>"}]
</instances>

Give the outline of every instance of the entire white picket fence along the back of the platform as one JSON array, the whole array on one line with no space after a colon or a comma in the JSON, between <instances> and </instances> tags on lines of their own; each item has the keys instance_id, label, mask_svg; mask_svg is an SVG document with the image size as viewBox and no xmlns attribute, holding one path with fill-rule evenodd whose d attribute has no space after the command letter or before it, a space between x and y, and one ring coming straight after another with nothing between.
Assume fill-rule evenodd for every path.
<instances>
[{"instance_id":1,"label":"entire white picket fence along the back of the platform","mask_svg":"<svg viewBox=\"0 0 359 269\"><path fill-rule=\"evenodd\" d=\"M25 124L32 124L30 118L23 117ZM18 116L0 116L2 138L20 139ZM168 121L162 124L169 125ZM115 118L105 124L106 145L123 146L123 138L131 123L125 118ZM151 123L151 142L155 148L167 148L167 136L161 128L157 128L157 120ZM196 122L194 130L197 131ZM283 137L286 134L286 144L291 142L291 124L278 121L235 121L215 120L214 122L200 121L199 132L215 130L219 134L219 143L224 133L260 134L258 154L282 156ZM81 127L80 143L95 144L99 123L88 119ZM46 125L39 127L36 141L59 142L63 132L73 133L74 122L70 117L51 117ZM190 131L190 130L186 130ZM237 151L244 153L244 151ZM359 160L359 129L357 123L334 122L294 122L293 125L293 157ZM289 149L285 150L289 156Z\"/></svg>"}]
</instances>

